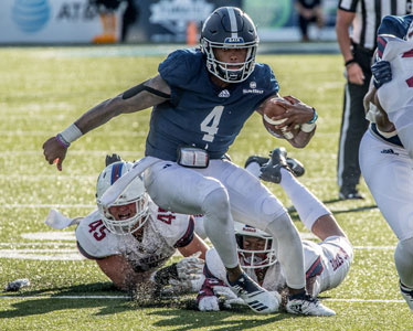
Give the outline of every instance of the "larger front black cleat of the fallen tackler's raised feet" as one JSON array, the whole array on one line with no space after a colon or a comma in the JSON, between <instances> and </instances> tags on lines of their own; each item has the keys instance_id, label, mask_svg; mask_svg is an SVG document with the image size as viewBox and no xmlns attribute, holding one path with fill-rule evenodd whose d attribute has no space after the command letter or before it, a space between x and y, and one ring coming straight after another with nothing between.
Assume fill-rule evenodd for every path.
<instances>
[{"instance_id":1,"label":"larger front black cleat of the fallen tackler's raised feet","mask_svg":"<svg viewBox=\"0 0 413 331\"><path fill-rule=\"evenodd\" d=\"M284 147L273 150L269 161L261 167L260 178L263 181L279 184L282 181L282 168L292 172L292 169L287 163L287 150Z\"/></svg>"}]
</instances>

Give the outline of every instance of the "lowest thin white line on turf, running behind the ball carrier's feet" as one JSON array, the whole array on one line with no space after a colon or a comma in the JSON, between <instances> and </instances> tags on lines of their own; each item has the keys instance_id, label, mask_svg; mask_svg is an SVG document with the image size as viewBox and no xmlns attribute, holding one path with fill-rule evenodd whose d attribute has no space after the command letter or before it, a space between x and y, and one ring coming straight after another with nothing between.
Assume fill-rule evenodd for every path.
<instances>
[{"instance_id":1,"label":"lowest thin white line on turf, running behind the ball carrier's feet","mask_svg":"<svg viewBox=\"0 0 413 331\"><path fill-rule=\"evenodd\" d=\"M130 299L127 296L0 296L0 299ZM338 302L371 302L371 303L405 303L404 300L384 300L384 299L322 299L322 301Z\"/></svg>"}]
</instances>

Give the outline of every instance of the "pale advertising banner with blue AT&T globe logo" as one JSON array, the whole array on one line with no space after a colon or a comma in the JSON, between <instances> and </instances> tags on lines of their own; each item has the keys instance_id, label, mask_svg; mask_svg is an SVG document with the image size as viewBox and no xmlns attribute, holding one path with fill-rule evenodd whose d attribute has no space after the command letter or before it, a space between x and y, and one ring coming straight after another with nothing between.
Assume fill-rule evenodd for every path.
<instances>
[{"instance_id":1,"label":"pale advertising banner with blue AT&T globe logo","mask_svg":"<svg viewBox=\"0 0 413 331\"><path fill-rule=\"evenodd\" d=\"M115 14L119 22L121 8ZM105 33L88 0L1 0L0 43L91 43Z\"/></svg>"}]
</instances>

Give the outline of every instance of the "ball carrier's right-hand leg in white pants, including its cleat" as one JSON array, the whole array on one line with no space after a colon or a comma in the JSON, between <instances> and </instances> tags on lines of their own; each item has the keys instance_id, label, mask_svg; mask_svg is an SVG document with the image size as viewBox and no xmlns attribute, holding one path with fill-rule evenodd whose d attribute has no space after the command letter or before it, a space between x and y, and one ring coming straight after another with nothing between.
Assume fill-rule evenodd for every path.
<instances>
[{"instance_id":1,"label":"ball carrier's right-hand leg in white pants, including its cleat","mask_svg":"<svg viewBox=\"0 0 413 331\"><path fill-rule=\"evenodd\" d=\"M234 218L269 233L277 242L277 258L292 295L289 311L330 316L335 312L305 292L303 245L298 232L280 202L252 174L231 162L213 173L226 186Z\"/></svg>"}]
</instances>

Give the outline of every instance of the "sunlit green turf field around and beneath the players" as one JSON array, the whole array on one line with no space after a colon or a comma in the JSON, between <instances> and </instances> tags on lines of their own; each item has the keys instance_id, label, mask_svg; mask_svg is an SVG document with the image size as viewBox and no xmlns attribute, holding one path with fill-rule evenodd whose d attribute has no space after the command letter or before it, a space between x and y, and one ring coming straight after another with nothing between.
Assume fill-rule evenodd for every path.
<instances>
[{"instance_id":1,"label":"sunlit green turf field around and beneath the players","mask_svg":"<svg viewBox=\"0 0 413 331\"><path fill-rule=\"evenodd\" d=\"M189 309L194 297L140 307L116 291L93 261L80 259L73 228L57 232L44 224L49 210L72 217L92 211L106 153L142 157L150 111L120 116L82 137L70 148L63 172L44 161L42 143L89 107L155 75L162 60L113 50L0 49L0 330L412 330L398 288L394 234L364 183L364 201L337 200L345 83L339 55L258 56L273 67L282 95L317 108L318 129L298 150L272 138L254 115L230 150L243 164L252 153L285 146L306 167L301 182L335 212L354 246L348 278L321 296L336 317L258 316L244 308L202 313ZM290 206L277 185L268 188ZM297 214L292 216L305 232ZM17 278L29 278L31 286L3 291Z\"/></svg>"}]
</instances>

